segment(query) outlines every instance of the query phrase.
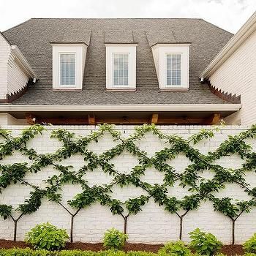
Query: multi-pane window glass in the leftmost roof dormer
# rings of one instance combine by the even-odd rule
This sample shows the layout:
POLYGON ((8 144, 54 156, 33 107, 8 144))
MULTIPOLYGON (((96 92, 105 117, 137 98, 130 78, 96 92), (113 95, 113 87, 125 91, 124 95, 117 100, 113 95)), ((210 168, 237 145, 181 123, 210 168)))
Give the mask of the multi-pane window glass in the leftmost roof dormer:
POLYGON ((75 53, 61 53, 60 64, 60 85, 75 86, 75 53))

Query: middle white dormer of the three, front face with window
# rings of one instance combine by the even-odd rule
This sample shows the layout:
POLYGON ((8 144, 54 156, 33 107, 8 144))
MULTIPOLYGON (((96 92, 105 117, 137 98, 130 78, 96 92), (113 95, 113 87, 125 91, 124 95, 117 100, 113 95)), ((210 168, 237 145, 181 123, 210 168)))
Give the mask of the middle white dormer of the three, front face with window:
POLYGON ((106 88, 111 90, 136 89, 137 44, 105 44, 106 88))

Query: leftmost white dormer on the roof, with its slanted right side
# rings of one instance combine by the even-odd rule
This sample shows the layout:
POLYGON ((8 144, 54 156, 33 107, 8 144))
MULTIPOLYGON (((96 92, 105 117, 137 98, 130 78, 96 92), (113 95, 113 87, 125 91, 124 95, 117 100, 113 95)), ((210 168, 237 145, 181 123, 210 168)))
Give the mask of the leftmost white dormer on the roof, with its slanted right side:
POLYGON ((53 44, 53 89, 81 90, 86 64, 87 45, 53 44))

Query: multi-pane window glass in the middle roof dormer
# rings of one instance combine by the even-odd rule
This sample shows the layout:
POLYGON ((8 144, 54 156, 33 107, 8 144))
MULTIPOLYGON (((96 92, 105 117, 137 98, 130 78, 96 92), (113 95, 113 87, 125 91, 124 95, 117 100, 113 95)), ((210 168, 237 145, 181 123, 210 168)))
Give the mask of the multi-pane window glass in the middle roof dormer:
POLYGON ((113 85, 128 86, 128 53, 115 53, 113 55, 113 85))

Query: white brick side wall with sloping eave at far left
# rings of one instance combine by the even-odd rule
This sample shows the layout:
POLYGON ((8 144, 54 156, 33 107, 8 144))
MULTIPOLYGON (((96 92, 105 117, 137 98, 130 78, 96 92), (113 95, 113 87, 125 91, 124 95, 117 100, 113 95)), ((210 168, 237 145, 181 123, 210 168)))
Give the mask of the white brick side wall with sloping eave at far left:
POLYGON ((8 102, 8 96, 24 89, 34 78, 37 75, 18 47, 0 34, 0 100, 8 102))

